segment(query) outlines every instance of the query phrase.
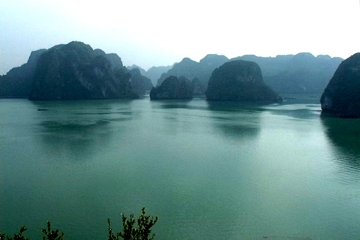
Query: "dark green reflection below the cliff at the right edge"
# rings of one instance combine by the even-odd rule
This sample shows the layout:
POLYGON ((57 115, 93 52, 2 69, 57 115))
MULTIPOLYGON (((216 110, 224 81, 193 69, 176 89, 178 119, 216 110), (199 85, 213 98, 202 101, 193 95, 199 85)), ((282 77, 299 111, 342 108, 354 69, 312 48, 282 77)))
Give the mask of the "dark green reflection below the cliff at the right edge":
POLYGON ((360 119, 321 117, 328 140, 341 153, 337 159, 360 171, 360 119))

